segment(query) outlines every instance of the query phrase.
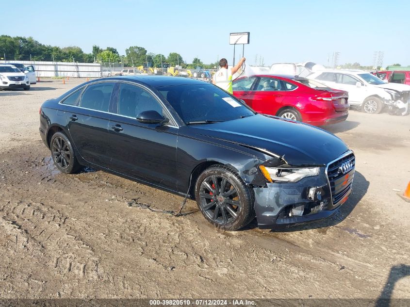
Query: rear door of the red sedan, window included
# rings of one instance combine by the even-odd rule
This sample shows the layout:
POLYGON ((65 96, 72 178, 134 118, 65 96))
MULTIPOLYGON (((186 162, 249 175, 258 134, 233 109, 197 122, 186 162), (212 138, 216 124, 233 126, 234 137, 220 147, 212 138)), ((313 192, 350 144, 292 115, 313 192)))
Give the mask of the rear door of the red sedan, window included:
POLYGON ((252 108, 258 113, 276 115, 286 97, 283 83, 276 78, 260 77, 253 90, 252 108))

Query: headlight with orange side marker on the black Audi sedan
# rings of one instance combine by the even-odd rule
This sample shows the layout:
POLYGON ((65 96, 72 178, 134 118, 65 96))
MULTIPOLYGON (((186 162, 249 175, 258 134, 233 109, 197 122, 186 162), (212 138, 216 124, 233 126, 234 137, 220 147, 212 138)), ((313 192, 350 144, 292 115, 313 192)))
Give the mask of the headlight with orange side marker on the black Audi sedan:
POLYGON ((320 167, 266 167, 260 165, 263 176, 269 182, 296 182, 305 177, 317 176, 320 167))

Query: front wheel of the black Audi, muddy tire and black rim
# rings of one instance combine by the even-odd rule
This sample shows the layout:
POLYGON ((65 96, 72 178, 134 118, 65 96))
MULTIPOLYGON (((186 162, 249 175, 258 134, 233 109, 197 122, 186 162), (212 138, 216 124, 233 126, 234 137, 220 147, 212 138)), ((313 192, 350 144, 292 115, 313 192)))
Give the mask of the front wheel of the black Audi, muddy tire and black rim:
POLYGON ((253 191, 227 166, 214 165, 203 171, 195 198, 205 218, 218 228, 238 230, 255 217, 253 191))

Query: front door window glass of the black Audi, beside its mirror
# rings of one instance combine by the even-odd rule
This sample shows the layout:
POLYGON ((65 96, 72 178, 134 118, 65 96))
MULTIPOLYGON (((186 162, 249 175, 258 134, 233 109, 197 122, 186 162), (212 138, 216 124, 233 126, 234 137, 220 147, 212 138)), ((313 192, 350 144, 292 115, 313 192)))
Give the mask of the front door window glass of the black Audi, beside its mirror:
POLYGON ((117 113, 136 118, 144 111, 157 111, 164 115, 163 108, 155 97, 137 85, 121 83, 119 88, 117 113))

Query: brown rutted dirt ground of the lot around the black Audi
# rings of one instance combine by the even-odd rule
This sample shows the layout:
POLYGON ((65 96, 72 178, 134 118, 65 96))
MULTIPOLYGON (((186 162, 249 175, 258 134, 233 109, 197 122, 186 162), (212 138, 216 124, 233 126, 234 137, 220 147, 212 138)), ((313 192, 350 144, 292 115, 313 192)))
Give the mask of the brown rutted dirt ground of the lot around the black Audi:
POLYGON ((331 218, 224 232, 193 201, 182 217, 137 206, 178 210, 180 196, 55 169, 38 110, 83 81, 0 92, 1 298, 410 298, 410 203, 397 195, 410 116, 350 111, 327 128, 356 153, 354 192, 331 218))

